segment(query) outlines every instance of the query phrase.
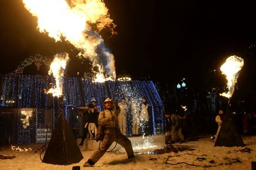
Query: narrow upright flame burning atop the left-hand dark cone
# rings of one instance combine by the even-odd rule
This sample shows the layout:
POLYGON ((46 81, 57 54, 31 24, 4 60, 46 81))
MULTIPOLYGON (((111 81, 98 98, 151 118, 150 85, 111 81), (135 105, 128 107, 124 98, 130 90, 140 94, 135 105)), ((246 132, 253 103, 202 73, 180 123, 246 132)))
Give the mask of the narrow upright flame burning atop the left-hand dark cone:
POLYGON ((53 75, 55 78, 56 85, 49 89, 47 94, 51 93, 52 96, 60 97, 62 95, 63 90, 63 82, 62 77, 64 75, 65 66, 68 61, 68 54, 56 54, 54 60, 51 62, 51 68, 48 72, 49 75, 53 75))

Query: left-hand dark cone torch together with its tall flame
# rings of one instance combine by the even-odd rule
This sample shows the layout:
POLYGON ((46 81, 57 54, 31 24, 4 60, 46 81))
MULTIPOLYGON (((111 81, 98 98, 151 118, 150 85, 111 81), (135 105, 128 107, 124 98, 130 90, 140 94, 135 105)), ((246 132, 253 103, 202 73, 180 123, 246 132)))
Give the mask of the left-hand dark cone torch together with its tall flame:
POLYGON ((63 113, 62 78, 68 59, 68 54, 55 55, 49 71, 49 74, 53 74, 56 85, 47 93, 51 93, 52 96, 58 98, 60 115, 45 151, 44 158, 42 159, 42 162, 47 164, 69 165, 83 159, 83 155, 77 146, 76 138, 74 138, 73 132, 63 113))

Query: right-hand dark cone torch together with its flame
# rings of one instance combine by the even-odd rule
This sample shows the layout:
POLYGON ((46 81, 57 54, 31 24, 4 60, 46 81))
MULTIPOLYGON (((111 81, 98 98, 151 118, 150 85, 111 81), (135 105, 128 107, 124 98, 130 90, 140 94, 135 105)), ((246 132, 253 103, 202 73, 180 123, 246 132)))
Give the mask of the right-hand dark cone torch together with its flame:
POLYGON ((244 146, 241 136, 235 128, 232 121, 231 111, 229 109, 229 103, 231 96, 235 91, 235 84, 239 76, 239 71, 244 65, 244 59, 239 56, 229 56, 227 61, 221 66, 222 74, 226 75, 228 92, 220 94, 228 98, 227 111, 222 122, 221 129, 216 136, 216 142, 214 146, 244 146))

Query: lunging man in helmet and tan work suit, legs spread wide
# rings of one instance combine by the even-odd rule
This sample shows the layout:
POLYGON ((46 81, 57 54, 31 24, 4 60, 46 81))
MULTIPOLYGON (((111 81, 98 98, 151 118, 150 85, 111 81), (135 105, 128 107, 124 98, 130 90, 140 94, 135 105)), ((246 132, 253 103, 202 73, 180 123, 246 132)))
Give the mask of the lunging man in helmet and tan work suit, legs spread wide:
POLYGON ((110 98, 107 98, 104 101, 104 111, 100 112, 99 115, 99 125, 103 126, 104 129, 104 138, 101 142, 99 149, 90 156, 87 162, 84 164, 84 167, 90 167, 96 164, 97 161, 106 153, 107 149, 113 144, 115 140, 116 142, 124 147, 126 150, 128 158, 134 158, 133 148, 131 141, 124 136, 118 126, 118 121, 115 121, 115 114, 119 114, 120 108, 117 105, 117 102, 111 101, 110 98), (116 109, 114 109, 116 107, 116 109), (116 113, 114 112, 116 110, 116 113), (116 125, 116 127, 115 127, 116 125))

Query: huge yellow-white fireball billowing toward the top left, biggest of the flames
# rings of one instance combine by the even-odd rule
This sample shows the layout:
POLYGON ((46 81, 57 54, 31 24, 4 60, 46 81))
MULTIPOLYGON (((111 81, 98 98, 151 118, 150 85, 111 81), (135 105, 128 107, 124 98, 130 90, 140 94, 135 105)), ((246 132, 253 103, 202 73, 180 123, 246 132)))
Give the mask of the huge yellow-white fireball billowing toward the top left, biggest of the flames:
POLYGON ((23 0, 25 8, 38 18, 38 29, 55 41, 69 41, 80 53, 79 58, 88 58, 93 66, 104 64, 107 75, 113 74, 114 58, 104 47, 100 32, 116 25, 110 19, 103 0, 23 0), (93 29, 91 28, 93 26, 93 29), (111 67, 111 68, 108 68, 111 67))

